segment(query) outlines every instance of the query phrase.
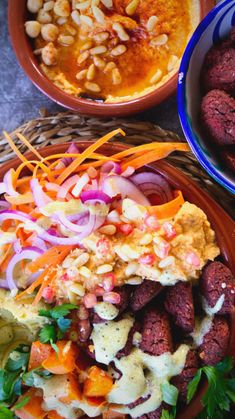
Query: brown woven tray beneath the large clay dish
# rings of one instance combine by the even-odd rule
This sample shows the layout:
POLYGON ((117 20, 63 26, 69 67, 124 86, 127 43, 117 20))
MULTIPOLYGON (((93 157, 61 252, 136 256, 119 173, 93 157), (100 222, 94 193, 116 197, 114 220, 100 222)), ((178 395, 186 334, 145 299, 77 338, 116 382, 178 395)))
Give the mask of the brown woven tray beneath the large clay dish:
MULTIPOLYGON (((123 140, 127 144, 139 145, 152 141, 185 141, 173 132, 163 130, 150 122, 141 122, 126 119, 98 119, 79 116, 73 112, 63 112, 56 115, 47 115, 45 110, 41 111, 41 116, 29 121, 11 133, 15 144, 19 146, 21 152, 25 151, 25 146, 20 145, 16 133, 20 132, 38 148, 63 142, 96 139, 120 127, 126 132, 123 140)), ((118 139, 120 141, 120 138, 118 139)), ((0 137, 0 164, 13 158, 14 153, 7 141, 0 137)), ((171 164, 178 167, 186 175, 190 176, 206 190, 212 197, 219 202, 224 209, 234 217, 235 197, 225 191, 215 183, 198 164, 194 155, 189 153, 174 153, 167 159, 171 164)))

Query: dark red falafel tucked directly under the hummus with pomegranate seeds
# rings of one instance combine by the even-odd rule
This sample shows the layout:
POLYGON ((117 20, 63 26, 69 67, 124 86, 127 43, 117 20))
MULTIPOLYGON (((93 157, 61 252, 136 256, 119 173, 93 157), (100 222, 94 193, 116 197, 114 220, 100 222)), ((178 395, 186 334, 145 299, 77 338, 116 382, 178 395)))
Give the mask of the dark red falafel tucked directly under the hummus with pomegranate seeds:
POLYGON ((142 284, 137 285, 131 296, 130 306, 133 311, 141 310, 148 304, 159 292, 163 286, 159 282, 145 280, 142 284))

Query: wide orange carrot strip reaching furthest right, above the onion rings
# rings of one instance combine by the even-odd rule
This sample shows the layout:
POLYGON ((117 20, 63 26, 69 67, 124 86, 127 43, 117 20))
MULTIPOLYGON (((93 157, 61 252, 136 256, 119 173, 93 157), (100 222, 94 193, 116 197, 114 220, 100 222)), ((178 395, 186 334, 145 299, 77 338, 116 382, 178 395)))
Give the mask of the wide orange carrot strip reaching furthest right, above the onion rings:
POLYGON ((124 160, 124 163, 121 165, 122 170, 126 170, 128 166, 133 167, 135 170, 140 167, 153 163, 156 160, 163 159, 167 157, 173 151, 189 151, 188 144, 185 143, 161 143, 159 147, 154 151, 149 151, 148 153, 142 153, 138 157, 133 159, 124 160))

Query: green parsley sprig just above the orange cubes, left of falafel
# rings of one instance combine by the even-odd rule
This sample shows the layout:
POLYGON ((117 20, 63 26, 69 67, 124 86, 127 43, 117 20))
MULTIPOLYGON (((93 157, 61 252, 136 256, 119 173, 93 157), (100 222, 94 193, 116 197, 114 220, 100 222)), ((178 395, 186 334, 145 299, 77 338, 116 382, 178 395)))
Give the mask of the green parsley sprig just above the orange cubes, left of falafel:
POLYGON ((62 339, 71 325, 71 320, 65 316, 78 307, 74 304, 62 304, 51 308, 50 310, 39 310, 39 315, 50 319, 50 324, 45 325, 40 333, 41 343, 50 343, 52 348, 58 353, 56 341, 62 339))

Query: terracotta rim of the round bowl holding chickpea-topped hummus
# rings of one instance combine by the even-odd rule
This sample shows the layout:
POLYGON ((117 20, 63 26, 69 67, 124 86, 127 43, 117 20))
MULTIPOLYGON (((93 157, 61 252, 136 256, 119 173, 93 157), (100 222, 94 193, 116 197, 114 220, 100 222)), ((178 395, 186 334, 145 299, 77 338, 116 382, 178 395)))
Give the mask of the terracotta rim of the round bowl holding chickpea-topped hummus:
MULTIPOLYGON (((143 97, 120 103, 99 103, 91 100, 75 98, 56 87, 41 71, 37 58, 34 56, 30 40, 25 34, 24 23, 27 16, 25 1, 8 1, 8 24, 13 48, 17 59, 32 82, 45 95, 65 108, 79 111, 87 115, 126 116, 144 111, 159 104, 170 96, 177 86, 177 74, 163 86, 143 97)), ((201 19, 211 10, 215 0, 200 0, 201 19)))

